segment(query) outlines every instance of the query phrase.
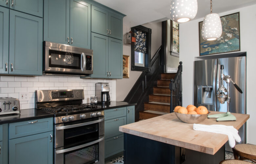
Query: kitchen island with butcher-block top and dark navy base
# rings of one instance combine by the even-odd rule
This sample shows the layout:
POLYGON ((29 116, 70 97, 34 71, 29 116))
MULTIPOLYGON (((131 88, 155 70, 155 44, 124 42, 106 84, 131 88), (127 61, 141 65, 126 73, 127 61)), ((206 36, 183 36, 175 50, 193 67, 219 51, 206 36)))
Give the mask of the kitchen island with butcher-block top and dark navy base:
MULTIPOLYGON (((222 112, 211 111, 210 114, 222 112)), ((236 121, 216 122, 205 119, 201 124, 222 124, 239 129, 248 114, 232 113, 236 121)), ((180 121, 175 113, 119 127, 124 132, 124 162, 130 163, 219 163, 225 158, 227 135, 193 130, 193 124, 180 121)))

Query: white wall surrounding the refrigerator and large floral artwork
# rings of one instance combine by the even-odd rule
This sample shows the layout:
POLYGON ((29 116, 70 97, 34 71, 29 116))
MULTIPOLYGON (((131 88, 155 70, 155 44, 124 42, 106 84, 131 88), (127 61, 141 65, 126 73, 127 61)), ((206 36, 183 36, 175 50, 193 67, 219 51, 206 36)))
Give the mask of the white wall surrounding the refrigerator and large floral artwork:
MULTIPOLYGON (((240 12, 240 46, 247 52, 246 72, 246 110, 250 114, 247 121, 247 143, 256 144, 256 109, 255 109, 255 36, 256 36, 256 5, 219 13, 220 16, 240 12)), ((199 56, 198 22, 203 18, 180 24, 180 61, 182 70, 182 101, 183 106, 193 104, 194 58, 199 56)))

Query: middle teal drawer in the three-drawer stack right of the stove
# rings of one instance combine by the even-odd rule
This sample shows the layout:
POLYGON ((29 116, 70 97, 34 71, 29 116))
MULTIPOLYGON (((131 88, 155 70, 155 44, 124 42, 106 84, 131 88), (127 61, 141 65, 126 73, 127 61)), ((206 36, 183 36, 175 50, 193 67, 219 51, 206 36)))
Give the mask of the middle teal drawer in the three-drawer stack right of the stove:
POLYGON ((119 132, 119 126, 123 126, 125 124, 126 117, 118 117, 105 120, 105 138, 110 138, 122 134, 122 132, 119 132))

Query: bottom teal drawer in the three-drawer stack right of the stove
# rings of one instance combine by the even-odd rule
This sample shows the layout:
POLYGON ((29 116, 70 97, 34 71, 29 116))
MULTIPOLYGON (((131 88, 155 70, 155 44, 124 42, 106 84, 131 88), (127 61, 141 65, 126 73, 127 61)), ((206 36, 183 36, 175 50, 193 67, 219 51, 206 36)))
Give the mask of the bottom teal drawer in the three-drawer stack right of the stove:
POLYGON ((105 158, 123 151, 123 134, 105 139, 105 158))

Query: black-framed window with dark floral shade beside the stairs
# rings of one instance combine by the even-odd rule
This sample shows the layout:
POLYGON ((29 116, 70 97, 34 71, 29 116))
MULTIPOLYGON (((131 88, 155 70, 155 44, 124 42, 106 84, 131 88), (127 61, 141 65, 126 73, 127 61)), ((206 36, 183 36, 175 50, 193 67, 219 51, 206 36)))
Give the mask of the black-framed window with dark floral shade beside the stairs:
POLYGON ((151 33, 152 30, 144 26, 131 28, 132 37, 136 42, 131 44, 132 71, 150 71, 151 60, 151 33))

